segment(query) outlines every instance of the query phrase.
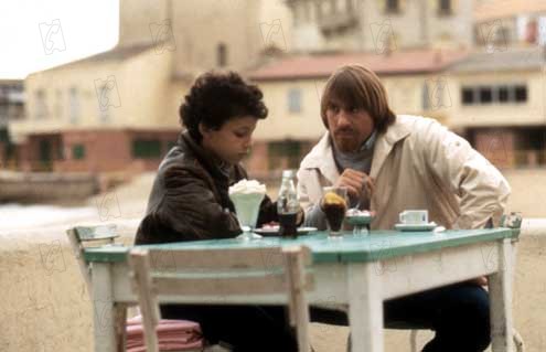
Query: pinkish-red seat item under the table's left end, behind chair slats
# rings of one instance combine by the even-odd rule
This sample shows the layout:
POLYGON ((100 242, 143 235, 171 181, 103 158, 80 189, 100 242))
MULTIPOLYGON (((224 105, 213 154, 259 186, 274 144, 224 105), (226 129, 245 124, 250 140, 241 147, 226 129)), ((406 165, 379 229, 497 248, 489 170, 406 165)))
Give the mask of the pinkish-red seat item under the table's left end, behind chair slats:
MULTIPOLYGON (((146 352, 141 316, 127 320, 127 352, 146 352)), ((202 351, 203 338, 199 323, 189 320, 162 319, 157 327, 160 351, 202 351)))

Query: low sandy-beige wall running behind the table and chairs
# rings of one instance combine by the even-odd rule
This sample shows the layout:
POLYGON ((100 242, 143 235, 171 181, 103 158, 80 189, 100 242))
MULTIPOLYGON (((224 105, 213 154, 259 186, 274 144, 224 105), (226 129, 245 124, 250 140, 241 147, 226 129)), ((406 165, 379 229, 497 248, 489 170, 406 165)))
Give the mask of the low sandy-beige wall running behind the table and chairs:
MULTIPOLYGON (((137 221, 117 223, 130 244, 137 221)), ((546 220, 524 220, 515 278, 514 317, 526 351, 544 351, 546 338, 546 220)), ((62 226, 0 232, 0 351, 90 352, 93 308, 62 226)), ((100 313, 100 312, 96 312, 100 313)), ((344 352, 347 328, 312 324, 317 352, 344 352)), ((419 332, 422 346, 430 332, 419 332)), ((409 332, 388 330, 386 351, 409 352, 409 332)))

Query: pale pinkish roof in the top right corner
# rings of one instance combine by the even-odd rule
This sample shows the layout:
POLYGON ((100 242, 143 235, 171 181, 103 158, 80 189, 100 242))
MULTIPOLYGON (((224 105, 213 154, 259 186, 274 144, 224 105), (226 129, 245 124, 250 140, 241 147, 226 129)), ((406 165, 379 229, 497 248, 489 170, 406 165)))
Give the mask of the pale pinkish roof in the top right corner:
POLYGON ((486 0, 474 7, 474 21, 484 22, 517 14, 546 12, 544 0, 486 0))

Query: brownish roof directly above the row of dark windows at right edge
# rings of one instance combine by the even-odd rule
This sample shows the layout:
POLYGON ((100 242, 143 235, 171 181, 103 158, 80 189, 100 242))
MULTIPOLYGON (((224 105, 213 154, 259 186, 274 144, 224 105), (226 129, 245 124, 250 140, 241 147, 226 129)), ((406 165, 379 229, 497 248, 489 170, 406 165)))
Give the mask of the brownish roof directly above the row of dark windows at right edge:
POLYGON ((539 46, 512 49, 500 52, 477 52, 450 67, 452 72, 491 72, 540 70, 545 62, 539 46))

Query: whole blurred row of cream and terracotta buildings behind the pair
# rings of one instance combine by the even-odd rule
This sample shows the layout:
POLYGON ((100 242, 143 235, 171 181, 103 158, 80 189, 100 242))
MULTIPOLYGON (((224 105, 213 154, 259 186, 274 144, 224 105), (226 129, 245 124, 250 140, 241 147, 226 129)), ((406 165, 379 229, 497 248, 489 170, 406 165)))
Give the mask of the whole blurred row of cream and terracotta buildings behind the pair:
POLYGON ((324 132, 335 67, 376 71, 398 114, 435 117, 503 168, 544 164, 546 4, 531 0, 121 0, 111 51, 31 74, 9 124, 22 170, 154 170, 193 79, 235 70, 270 115, 250 173, 296 168, 324 132))

